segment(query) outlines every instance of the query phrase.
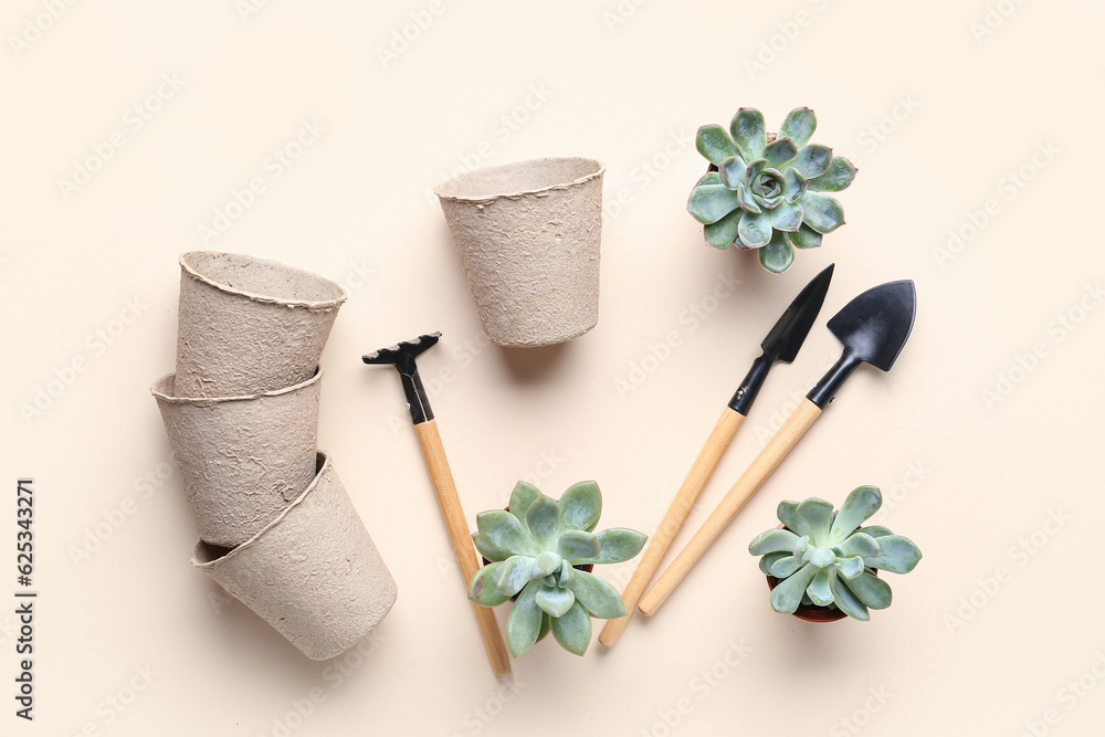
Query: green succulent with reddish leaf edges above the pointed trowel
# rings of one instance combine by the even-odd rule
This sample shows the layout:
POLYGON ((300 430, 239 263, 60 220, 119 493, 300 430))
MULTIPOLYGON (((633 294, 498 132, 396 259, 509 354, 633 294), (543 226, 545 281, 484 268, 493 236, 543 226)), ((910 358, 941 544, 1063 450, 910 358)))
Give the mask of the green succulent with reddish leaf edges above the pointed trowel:
POLYGON ((717 171, 694 186, 687 211, 705 224, 707 244, 757 249, 760 264, 781 274, 794 262, 794 249, 817 248, 822 235, 844 224, 840 202, 824 192, 845 189, 856 169, 809 143, 817 127, 813 110, 798 107, 771 135, 759 110, 741 107, 728 130, 698 128, 698 152, 717 171))

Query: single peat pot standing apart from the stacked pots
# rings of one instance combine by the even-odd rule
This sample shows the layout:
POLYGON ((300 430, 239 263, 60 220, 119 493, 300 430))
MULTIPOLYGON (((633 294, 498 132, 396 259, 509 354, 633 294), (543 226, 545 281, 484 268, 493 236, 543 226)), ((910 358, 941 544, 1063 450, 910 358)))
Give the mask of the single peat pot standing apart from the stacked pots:
POLYGON ((534 159, 434 190, 492 341, 547 346, 594 327, 602 172, 593 159, 534 159))

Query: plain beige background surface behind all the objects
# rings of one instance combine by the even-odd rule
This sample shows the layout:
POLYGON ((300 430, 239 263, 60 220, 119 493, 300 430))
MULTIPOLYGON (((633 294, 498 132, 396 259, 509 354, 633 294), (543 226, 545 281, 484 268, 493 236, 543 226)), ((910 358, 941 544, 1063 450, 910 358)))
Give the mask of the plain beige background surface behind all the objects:
MULTIPOLYGON (((36 481, 41 598, 38 718, 15 719, 6 695, 0 730, 1099 730, 1101 3, 369 6, 4 3, 0 444, 6 487, 36 481), (782 277, 704 246, 684 210, 704 169, 695 128, 743 105, 769 124, 813 107, 815 140, 861 169, 841 194, 848 225, 782 277), (298 158, 270 159, 301 135, 298 158), (430 191, 463 166, 557 154, 608 167, 599 326, 559 350, 488 347, 430 191), (83 186, 61 183, 97 157, 83 186), (264 191, 204 243, 254 178, 264 191), (194 531, 148 386, 172 368, 177 254, 204 246, 351 293, 323 359, 320 445, 400 592, 347 660, 308 662, 188 565, 194 531), (909 277, 919 314, 898 365, 849 382, 653 621, 582 660, 543 643, 496 683, 399 383, 360 355, 444 333, 422 371, 470 519, 519 477, 552 495, 596 478, 603 526, 651 533, 762 334, 831 261, 822 320, 693 519, 835 357, 824 319, 909 277), (57 396, 27 415, 48 386, 57 396), (776 614, 748 540, 780 499, 839 503, 860 484, 883 487, 875 520, 925 559, 870 623, 776 614)), ((9 601, 13 546, 0 550, 9 601)))

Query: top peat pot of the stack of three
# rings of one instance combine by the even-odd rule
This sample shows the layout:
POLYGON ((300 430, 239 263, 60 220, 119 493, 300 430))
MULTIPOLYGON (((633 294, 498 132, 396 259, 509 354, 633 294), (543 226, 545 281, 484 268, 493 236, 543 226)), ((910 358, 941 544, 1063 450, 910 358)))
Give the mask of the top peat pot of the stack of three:
POLYGON ((233 397, 309 379, 346 297, 337 283, 276 261, 182 254, 177 393, 233 397))

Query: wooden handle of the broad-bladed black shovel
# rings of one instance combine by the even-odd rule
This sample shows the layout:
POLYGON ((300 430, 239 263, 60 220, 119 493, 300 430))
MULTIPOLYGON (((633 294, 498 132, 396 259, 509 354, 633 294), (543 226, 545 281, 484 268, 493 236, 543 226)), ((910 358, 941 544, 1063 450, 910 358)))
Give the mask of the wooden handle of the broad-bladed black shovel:
POLYGON ((640 610, 644 612, 648 617, 652 617, 656 613, 660 607, 667 600, 667 597, 672 594, 675 587, 680 585, 683 577, 687 575, 692 566, 697 562, 702 554, 706 551, 706 548, 717 539, 717 536, 722 534, 733 518, 740 512, 740 507, 745 506, 745 503, 751 498, 751 495, 756 493, 756 489, 760 487, 764 480, 771 475, 776 466, 787 457, 791 449, 801 440, 806 431, 810 429, 813 421, 821 417, 821 409, 808 399, 803 399, 802 403, 798 406, 787 422, 783 423, 779 432, 768 442, 768 444, 760 451, 753 464, 748 466, 737 483, 733 485, 733 488, 725 495, 722 503, 717 505, 703 526, 695 533, 695 536, 691 538, 687 546, 683 548, 678 557, 672 561, 672 565, 667 567, 667 570, 656 580, 656 585, 649 590, 649 593, 644 596, 641 600, 640 610))

